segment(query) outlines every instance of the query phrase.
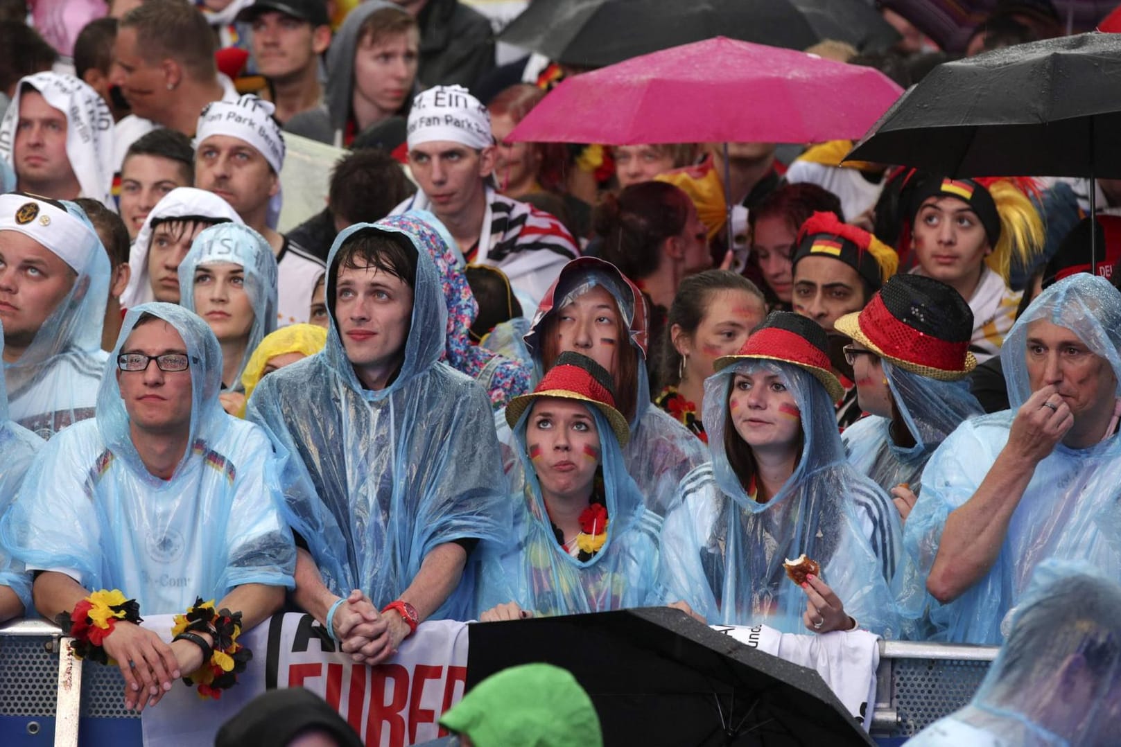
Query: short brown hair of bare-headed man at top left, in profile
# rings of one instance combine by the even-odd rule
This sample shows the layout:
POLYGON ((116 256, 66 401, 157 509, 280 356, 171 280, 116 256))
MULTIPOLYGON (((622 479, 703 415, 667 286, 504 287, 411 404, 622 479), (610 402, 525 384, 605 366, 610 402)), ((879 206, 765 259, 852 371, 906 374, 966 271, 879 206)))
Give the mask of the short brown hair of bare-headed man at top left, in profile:
POLYGON ((145 0, 124 13, 118 32, 136 29, 138 50, 148 64, 174 59, 196 81, 217 74, 216 41, 206 18, 186 0, 145 0))

